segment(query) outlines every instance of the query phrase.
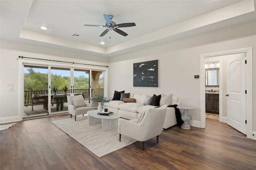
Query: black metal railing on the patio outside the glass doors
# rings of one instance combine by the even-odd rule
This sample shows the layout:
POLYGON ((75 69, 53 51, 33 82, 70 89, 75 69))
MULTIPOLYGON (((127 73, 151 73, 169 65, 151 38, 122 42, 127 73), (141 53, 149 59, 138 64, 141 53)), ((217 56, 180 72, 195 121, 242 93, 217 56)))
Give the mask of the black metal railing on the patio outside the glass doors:
MULTIPOLYGON (((53 93, 53 90, 51 90, 51 93, 53 93)), ((57 90, 57 93, 64 93, 64 90, 57 90)), ((68 90, 67 93, 70 93, 70 90, 68 90)), ((84 99, 89 99, 90 98, 90 90, 89 89, 74 89, 74 93, 75 94, 81 93, 84 96, 84 99)), ((27 90, 27 91, 24 91, 24 106, 31 105, 32 94, 35 94, 35 95, 48 94, 48 90, 27 90)))

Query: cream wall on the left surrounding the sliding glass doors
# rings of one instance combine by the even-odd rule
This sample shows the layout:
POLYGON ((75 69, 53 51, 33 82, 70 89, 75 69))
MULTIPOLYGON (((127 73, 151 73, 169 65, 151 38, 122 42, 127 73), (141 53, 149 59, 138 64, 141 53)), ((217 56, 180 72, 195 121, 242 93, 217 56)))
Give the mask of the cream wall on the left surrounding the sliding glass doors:
POLYGON ((108 65, 108 58, 105 57, 84 55, 5 39, 1 39, 0 43, 0 123, 19 120, 18 56, 84 64, 108 65), (6 87, 7 83, 14 83, 14 91, 8 91, 6 87))

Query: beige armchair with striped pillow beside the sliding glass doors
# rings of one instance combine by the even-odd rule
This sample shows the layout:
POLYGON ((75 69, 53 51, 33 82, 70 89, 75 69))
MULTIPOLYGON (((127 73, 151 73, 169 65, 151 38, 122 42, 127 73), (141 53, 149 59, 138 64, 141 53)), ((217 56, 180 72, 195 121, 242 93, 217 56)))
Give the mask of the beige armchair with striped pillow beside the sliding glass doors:
POLYGON ((87 104, 84 102, 84 98, 82 94, 77 96, 67 96, 68 99, 68 113, 70 113, 70 118, 72 118, 72 115, 84 115, 89 110, 93 110, 94 107, 92 107, 92 104, 87 104))

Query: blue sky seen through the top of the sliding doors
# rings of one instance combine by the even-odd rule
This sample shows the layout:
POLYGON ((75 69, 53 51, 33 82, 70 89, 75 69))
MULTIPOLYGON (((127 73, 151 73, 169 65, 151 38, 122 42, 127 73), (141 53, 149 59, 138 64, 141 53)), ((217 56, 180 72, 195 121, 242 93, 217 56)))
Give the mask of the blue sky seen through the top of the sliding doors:
MULTIPOLYGON (((40 73, 48 73, 48 69, 44 69, 44 68, 33 68, 33 70, 35 72, 40 72, 40 73)), ((57 74, 57 75, 61 75, 61 76, 70 76, 70 71, 68 70, 51 70, 52 74, 57 74)), ((24 67, 24 73, 28 73, 28 68, 24 67)), ((88 74, 85 74, 85 72, 81 72, 81 71, 75 71, 74 72, 74 76, 75 77, 79 77, 80 75, 83 75, 85 77, 89 77, 88 74)), ((103 74, 100 74, 100 78, 103 77, 103 74)))

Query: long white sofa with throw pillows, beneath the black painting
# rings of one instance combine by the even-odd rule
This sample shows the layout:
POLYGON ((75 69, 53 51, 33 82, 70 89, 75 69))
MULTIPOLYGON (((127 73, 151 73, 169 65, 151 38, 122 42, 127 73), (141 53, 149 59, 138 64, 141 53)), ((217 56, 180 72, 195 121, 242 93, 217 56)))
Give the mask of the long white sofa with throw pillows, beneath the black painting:
MULTIPOLYGON (((104 107, 107 108, 109 111, 118 113, 120 115, 120 117, 122 117, 124 119, 128 119, 128 120, 138 119, 142 112, 147 111, 148 108, 156 107, 156 106, 151 106, 151 105, 144 105, 145 99, 148 98, 147 96, 152 96, 152 95, 138 94, 138 93, 130 94, 129 98, 134 98, 136 100, 136 102, 125 103, 125 102, 119 101, 119 100, 112 100, 109 103, 105 103, 104 107)), ((178 97, 172 96, 172 94, 170 94, 170 95, 162 94, 161 95, 160 106, 163 106, 164 104, 167 104, 167 105, 177 104, 178 106, 181 106, 181 102, 178 101, 178 97), (166 101, 166 98, 169 96, 171 97, 171 99, 166 101)), ((176 115, 175 115, 175 108, 167 107, 166 117, 165 117, 163 128, 167 129, 176 124, 177 124, 177 121, 176 121, 176 115)))

